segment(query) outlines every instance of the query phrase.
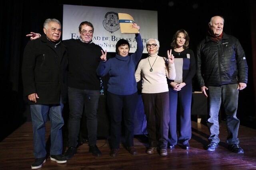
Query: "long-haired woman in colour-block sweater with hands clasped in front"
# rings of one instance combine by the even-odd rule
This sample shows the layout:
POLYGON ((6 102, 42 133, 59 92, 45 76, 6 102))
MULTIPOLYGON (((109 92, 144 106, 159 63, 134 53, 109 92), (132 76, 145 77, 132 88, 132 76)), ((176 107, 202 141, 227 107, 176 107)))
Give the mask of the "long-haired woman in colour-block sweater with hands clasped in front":
POLYGON ((196 73, 196 64, 193 51, 188 49, 188 42, 187 31, 180 29, 174 34, 171 43, 172 54, 175 57, 176 78, 168 83, 170 149, 174 149, 177 144, 186 150, 190 148, 188 141, 191 139, 192 78, 196 73), (177 115, 179 121, 177 121, 177 115), (178 134, 177 124, 179 125, 178 134))

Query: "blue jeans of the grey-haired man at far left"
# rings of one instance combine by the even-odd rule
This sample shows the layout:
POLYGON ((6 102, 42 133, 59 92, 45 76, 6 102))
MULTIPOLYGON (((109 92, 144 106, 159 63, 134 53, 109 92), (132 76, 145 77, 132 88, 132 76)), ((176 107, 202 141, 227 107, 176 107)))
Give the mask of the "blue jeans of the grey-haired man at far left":
POLYGON ((50 154, 62 154, 62 126, 64 125, 62 109, 62 103, 57 105, 30 105, 35 158, 46 157, 45 123, 48 113, 51 122, 50 154))

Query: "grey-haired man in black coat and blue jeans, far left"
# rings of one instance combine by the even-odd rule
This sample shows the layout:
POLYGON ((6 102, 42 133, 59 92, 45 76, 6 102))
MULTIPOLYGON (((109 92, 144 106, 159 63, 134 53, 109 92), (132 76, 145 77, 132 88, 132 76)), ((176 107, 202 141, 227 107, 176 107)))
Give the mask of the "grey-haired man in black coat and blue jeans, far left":
POLYGON ((28 97, 33 125, 35 161, 37 169, 46 161, 45 123, 51 121, 50 159, 67 162, 62 155, 63 103, 66 100, 67 51, 60 41, 61 23, 56 19, 44 22, 44 35, 29 41, 24 49, 22 80, 24 95, 28 97))

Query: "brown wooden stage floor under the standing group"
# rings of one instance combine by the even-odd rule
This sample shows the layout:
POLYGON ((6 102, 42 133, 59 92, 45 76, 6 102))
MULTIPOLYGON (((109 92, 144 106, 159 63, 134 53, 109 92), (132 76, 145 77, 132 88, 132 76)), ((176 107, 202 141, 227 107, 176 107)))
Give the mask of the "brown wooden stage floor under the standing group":
MULTIPOLYGON (((49 136, 50 123, 47 123, 49 136)), ((190 150, 176 146, 168 149, 168 156, 145 153, 147 138, 144 135, 134 137, 134 145, 138 151, 132 156, 121 145, 117 157, 109 156, 109 145, 105 139, 98 140, 97 145, 102 151, 101 157, 94 157, 88 152, 84 143, 78 153, 65 164, 57 164, 50 158, 40 170, 248 170, 256 169, 256 130, 240 126, 240 146, 244 154, 235 154, 225 144, 226 125, 220 124, 221 143, 214 152, 204 149, 207 141, 208 128, 202 123, 192 121, 192 139, 190 150)), ((47 139, 46 138, 46 139, 47 139)), ((30 169, 33 157, 32 123, 26 122, 0 143, 0 170, 30 169)))

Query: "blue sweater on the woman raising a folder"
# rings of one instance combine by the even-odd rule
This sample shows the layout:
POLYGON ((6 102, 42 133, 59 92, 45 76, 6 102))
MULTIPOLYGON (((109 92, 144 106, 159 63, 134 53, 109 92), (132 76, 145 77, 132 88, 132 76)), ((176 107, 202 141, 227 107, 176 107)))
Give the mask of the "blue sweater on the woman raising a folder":
POLYGON ((109 74, 108 92, 117 95, 130 95, 137 92, 135 68, 143 52, 143 43, 140 34, 136 34, 137 50, 134 54, 122 57, 116 55, 108 61, 100 61, 96 70, 98 76, 109 74))

